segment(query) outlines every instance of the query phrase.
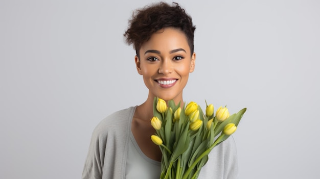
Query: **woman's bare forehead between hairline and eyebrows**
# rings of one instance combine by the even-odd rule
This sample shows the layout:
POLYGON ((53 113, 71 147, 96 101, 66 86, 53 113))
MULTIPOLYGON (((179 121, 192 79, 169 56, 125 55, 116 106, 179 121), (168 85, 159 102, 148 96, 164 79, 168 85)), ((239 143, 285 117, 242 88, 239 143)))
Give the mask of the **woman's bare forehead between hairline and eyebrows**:
POLYGON ((187 36, 179 29, 165 28, 153 33, 150 39, 141 45, 140 55, 150 49, 169 52, 177 48, 183 48, 190 53, 187 36))

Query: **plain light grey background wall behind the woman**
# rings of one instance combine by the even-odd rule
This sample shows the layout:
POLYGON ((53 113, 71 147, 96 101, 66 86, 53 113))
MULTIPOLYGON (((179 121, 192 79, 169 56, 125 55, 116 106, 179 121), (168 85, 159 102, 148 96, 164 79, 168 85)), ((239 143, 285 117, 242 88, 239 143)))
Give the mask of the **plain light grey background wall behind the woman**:
MULTIPOLYGON (((98 122, 147 97, 122 34, 150 2, 0 1, 0 178, 80 178, 98 122)), ((177 2, 197 27, 184 99, 248 108, 239 178, 320 178, 319 1, 177 2)))

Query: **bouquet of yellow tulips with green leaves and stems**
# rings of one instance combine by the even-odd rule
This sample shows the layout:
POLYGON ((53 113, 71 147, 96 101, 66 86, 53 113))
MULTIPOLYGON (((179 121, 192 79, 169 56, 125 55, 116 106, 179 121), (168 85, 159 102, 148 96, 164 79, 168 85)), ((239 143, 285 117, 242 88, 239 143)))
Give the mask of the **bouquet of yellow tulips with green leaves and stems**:
POLYGON ((220 107, 214 115, 213 105, 205 103, 204 114, 194 102, 181 109, 172 100, 167 106, 165 100, 154 98, 151 125, 156 134, 151 140, 163 155, 160 178, 197 178, 209 152, 236 131, 246 111, 230 115, 226 107, 220 107))

